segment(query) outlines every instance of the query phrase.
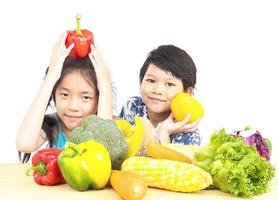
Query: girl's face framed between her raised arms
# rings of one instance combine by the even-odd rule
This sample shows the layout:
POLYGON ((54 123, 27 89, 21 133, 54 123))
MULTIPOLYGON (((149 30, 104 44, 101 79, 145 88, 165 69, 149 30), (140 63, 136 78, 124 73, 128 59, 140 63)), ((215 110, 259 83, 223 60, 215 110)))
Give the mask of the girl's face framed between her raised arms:
POLYGON ((96 114, 98 96, 96 87, 89 84, 78 71, 64 76, 55 92, 56 111, 62 130, 69 134, 90 114, 96 114))

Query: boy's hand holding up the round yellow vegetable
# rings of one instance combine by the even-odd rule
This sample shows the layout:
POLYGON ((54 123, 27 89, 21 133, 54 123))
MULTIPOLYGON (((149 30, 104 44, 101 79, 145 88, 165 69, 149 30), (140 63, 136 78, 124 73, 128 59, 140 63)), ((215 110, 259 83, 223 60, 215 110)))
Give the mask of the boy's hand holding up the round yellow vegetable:
POLYGON ((188 133, 195 131, 200 123, 200 119, 195 122, 188 123, 190 118, 190 114, 186 116, 186 118, 181 122, 176 122, 174 120, 174 116, 171 113, 170 116, 163 121, 158 128, 158 135, 160 141, 163 143, 170 142, 170 135, 177 133, 188 133))

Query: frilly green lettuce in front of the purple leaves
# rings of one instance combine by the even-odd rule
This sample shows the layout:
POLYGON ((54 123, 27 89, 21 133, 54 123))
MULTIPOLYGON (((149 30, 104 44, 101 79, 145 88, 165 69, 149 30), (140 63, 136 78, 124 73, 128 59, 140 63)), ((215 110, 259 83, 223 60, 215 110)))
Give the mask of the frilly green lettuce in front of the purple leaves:
POLYGON ((252 197, 268 191, 274 168, 241 137, 216 131, 209 144, 195 155, 195 165, 208 171, 216 188, 237 196, 252 197))

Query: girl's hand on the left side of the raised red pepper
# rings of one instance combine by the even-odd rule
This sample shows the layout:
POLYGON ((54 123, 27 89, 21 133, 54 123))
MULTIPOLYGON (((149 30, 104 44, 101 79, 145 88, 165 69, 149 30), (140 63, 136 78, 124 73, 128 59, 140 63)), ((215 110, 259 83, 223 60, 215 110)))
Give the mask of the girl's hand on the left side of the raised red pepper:
POLYGON ((48 76, 58 80, 61 76, 63 63, 66 57, 69 55, 71 49, 74 47, 72 43, 68 48, 65 46, 65 40, 67 38, 67 32, 61 34, 60 38, 54 44, 50 57, 50 64, 48 69, 48 76))

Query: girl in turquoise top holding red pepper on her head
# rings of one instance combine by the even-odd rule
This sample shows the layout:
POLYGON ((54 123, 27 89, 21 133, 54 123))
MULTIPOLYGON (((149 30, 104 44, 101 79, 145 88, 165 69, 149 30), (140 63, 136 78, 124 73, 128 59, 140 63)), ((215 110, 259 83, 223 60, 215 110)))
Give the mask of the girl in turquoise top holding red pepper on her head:
POLYGON ((18 150, 29 153, 23 162, 46 141, 62 149, 69 133, 90 114, 112 119, 111 77, 99 50, 92 45, 88 57, 71 59, 73 44, 66 49, 66 36, 55 43, 46 77, 17 133, 18 150), (51 100, 56 113, 45 115, 51 100))

